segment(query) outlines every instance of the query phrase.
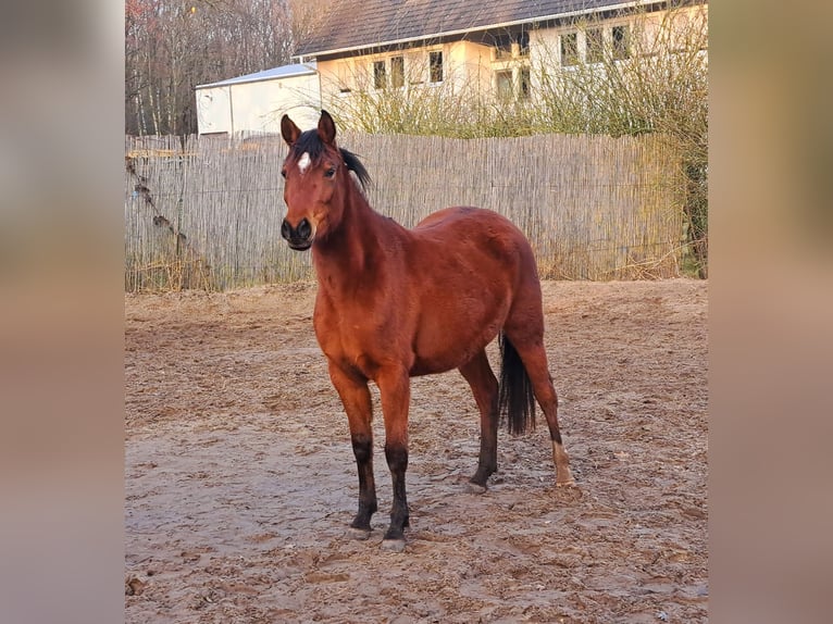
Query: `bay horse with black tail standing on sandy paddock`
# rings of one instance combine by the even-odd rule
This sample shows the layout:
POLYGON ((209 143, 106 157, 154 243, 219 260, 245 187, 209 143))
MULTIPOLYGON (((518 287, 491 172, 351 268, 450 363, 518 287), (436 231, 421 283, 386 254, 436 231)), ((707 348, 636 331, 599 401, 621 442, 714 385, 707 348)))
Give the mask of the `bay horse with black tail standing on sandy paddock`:
POLYGON ((319 283, 313 326, 347 413, 359 472, 353 536, 369 537, 376 511, 370 380, 380 390, 394 486, 383 549, 401 551, 409 525, 410 377, 457 369, 471 386, 481 419, 471 490, 485 491, 497 470, 501 414, 510 433, 523 433, 534 427, 535 399, 549 426, 556 485, 572 485, 544 350, 540 283, 521 230, 496 212, 465 207, 407 229, 370 207, 363 194, 370 175, 336 145, 326 111, 303 133, 284 115, 281 134, 289 146, 281 172, 287 207, 281 234, 291 249, 312 248, 319 283), (486 357, 498 335, 499 383, 486 357))

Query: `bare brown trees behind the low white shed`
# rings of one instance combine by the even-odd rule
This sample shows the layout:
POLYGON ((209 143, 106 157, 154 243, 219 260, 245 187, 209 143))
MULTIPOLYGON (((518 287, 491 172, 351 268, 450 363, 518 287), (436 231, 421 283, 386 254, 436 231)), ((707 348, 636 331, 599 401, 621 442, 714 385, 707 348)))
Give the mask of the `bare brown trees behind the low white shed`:
POLYGON ((321 15, 298 0, 127 0, 125 129, 197 130, 197 85, 289 62, 321 15))

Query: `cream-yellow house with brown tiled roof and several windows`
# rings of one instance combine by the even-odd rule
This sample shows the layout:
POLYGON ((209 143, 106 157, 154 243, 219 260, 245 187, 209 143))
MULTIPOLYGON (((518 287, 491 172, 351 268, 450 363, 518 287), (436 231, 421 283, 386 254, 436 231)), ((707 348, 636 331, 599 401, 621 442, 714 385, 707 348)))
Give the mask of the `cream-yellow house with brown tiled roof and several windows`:
POLYGON ((343 117, 357 98, 391 89, 522 101, 554 68, 649 54, 662 30, 706 28, 707 10, 705 1, 334 0, 295 58, 316 62, 321 101, 343 117))

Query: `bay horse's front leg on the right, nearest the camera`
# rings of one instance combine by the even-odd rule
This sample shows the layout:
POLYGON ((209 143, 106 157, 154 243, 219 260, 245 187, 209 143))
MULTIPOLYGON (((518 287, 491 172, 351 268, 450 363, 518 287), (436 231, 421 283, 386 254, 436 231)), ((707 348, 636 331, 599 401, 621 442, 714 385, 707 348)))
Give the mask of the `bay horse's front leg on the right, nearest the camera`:
POLYGON ((377 379, 385 417, 385 458, 394 484, 394 504, 390 508, 390 526, 385 533, 382 548, 405 549, 403 529, 408 526, 408 498, 405 491, 405 473, 408 470, 408 409, 411 400, 411 382, 405 367, 383 371, 377 379))

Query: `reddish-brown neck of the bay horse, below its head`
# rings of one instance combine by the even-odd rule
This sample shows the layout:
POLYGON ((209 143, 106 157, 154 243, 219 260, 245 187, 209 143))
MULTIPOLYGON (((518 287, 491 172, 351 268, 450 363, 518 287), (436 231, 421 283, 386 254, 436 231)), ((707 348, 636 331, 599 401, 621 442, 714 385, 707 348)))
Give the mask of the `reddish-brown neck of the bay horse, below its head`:
POLYGON ((374 211, 358 189, 351 189, 339 227, 313 250, 320 282, 355 283, 360 276, 377 271, 387 253, 385 248, 389 247, 386 244, 402 232, 405 228, 374 211))

